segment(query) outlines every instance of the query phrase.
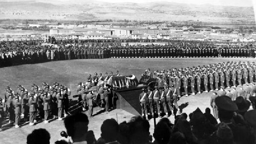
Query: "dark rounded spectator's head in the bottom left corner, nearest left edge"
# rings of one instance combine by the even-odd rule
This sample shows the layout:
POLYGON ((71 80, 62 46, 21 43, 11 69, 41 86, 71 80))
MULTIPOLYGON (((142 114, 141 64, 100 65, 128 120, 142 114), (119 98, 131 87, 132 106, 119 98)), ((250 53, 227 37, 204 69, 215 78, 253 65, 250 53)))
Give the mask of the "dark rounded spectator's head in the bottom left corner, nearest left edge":
POLYGON ((36 129, 28 134, 27 144, 50 144, 51 135, 45 129, 36 129))

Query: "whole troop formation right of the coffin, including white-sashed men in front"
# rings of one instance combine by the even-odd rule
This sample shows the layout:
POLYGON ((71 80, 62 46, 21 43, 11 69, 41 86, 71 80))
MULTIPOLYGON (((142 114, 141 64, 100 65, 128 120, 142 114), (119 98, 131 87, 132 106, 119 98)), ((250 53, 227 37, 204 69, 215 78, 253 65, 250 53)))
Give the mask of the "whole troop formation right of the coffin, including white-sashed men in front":
MULTIPOLYGON (((150 69, 148 76, 152 76, 150 69)), ((223 62, 208 66, 193 66, 191 68, 168 69, 154 72, 157 78, 157 86, 154 89, 148 87, 148 90, 142 89, 140 94, 140 104, 142 116, 148 118, 148 114, 154 116, 158 113, 162 117, 162 113, 169 116, 174 114, 175 108, 178 113, 180 109, 177 100, 184 95, 186 97, 202 92, 217 93, 217 96, 228 96, 230 100, 236 101, 237 98, 247 100, 247 107, 255 109, 255 83, 256 65, 254 62, 223 62), (156 108, 155 108, 156 107, 156 108), (154 109, 155 108, 155 109, 154 109)), ((214 117, 216 116, 216 106, 213 108, 214 117)), ((240 100, 241 101, 241 100, 240 100)), ((247 108, 247 109, 248 109, 247 108)))

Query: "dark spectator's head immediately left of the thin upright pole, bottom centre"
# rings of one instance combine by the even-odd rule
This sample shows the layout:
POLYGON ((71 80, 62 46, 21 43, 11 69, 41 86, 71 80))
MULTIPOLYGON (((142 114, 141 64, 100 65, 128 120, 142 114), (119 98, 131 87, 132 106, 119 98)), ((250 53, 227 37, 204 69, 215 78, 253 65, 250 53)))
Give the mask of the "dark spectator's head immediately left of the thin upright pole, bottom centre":
POLYGON ((141 116, 132 117, 129 125, 129 141, 131 144, 149 144, 149 122, 141 116))

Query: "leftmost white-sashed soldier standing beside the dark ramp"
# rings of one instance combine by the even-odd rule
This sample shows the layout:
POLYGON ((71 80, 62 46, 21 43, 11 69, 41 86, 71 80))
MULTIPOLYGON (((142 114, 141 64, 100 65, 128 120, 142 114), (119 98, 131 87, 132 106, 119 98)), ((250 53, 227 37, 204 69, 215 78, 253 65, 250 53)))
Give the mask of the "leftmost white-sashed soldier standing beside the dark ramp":
POLYGON ((148 96, 146 93, 146 89, 142 88, 141 90, 142 92, 140 93, 139 96, 139 101, 140 101, 140 105, 141 105, 141 114, 142 117, 144 117, 144 115, 146 116, 146 119, 148 119, 148 96))

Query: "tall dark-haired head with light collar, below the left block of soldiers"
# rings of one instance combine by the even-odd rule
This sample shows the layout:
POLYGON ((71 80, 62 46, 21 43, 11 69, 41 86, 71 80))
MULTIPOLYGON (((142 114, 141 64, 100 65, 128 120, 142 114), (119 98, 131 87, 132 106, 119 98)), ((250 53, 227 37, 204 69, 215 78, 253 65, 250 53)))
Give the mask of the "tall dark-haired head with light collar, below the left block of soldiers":
POLYGON ((83 113, 76 113, 68 116, 64 120, 68 136, 71 136, 73 144, 82 144, 86 142, 89 120, 83 113))

